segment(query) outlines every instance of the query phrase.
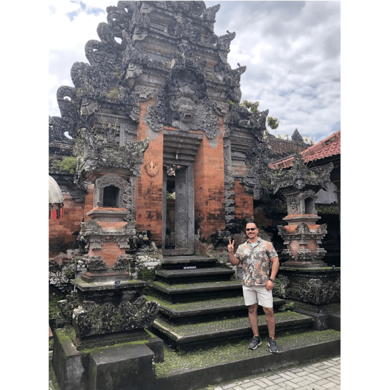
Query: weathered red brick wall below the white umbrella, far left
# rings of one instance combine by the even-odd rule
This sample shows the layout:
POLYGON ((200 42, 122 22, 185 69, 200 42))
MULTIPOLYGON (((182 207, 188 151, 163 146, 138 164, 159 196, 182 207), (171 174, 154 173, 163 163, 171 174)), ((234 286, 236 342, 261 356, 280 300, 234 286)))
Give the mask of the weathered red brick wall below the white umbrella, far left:
POLYGON ((65 194, 63 218, 49 220, 49 258, 66 253, 67 249, 78 249, 77 236, 80 222, 84 219, 84 204, 75 202, 71 195, 65 194))

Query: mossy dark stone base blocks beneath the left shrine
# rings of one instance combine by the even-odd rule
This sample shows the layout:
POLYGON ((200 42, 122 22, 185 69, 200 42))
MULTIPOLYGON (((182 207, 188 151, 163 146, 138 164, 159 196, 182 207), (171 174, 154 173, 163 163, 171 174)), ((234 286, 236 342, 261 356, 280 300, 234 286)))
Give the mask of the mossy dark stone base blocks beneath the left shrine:
MULTIPOLYGON (((93 348, 91 339, 79 350, 68 324, 54 334, 53 369, 61 390, 143 390, 153 388, 156 362, 164 360, 163 342, 147 330, 127 333, 117 343, 93 348), (135 334, 136 333, 136 334, 135 334), (130 338, 135 340, 128 341, 130 338), (87 348, 89 347, 89 348, 87 348)), ((95 340, 102 342, 102 337, 95 340)))

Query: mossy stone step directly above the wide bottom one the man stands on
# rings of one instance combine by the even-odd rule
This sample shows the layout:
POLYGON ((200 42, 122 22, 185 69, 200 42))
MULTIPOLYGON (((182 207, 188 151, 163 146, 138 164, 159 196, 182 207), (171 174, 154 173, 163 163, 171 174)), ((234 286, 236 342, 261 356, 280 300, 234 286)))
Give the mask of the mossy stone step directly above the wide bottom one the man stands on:
MULTIPOLYGON (((275 316, 276 334, 285 330, 302 332, 309 329, 314 322, 310 316, 290 311, 275 313, 275 316)), ((260 335, 266 338, 268 330, 264 314, 258 316, 258 328, 260 335)), ((248 316, 176 324, 158 314, 152 332, 163 340, 170 341, 182 351, 191 351, 253 335, 248 316)))

